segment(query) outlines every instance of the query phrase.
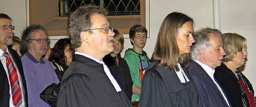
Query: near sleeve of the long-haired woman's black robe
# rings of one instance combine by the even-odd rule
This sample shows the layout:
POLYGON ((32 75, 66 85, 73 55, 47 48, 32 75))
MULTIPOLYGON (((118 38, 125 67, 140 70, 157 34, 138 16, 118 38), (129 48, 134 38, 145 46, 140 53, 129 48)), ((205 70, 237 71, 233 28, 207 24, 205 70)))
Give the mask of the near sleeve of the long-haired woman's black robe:
POLYGON ((174 107, 157 70, 146 71, 141 87, 139 107, 174 107))

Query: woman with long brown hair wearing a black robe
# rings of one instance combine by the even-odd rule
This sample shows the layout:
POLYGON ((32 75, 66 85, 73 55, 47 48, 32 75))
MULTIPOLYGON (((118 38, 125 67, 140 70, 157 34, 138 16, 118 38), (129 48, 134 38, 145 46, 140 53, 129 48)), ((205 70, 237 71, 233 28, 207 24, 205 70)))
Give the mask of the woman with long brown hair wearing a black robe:
POLYGON ((173 12, 166 16, 151 62, 142 80, 140 107, 201 107, 202 101, 185 68, 195 42, 193 19, 173 12))

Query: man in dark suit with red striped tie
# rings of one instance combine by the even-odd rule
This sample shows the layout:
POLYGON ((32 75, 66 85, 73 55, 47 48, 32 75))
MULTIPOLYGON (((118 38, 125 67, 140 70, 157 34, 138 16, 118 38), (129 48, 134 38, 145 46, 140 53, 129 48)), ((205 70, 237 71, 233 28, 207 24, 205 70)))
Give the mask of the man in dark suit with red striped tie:
POLYGON ((0 107, 27 107, 28 94, 22 62, 12 45, 12 19, 0 14, 0 107), (10 69, 12 68, 12 69, 10 69))

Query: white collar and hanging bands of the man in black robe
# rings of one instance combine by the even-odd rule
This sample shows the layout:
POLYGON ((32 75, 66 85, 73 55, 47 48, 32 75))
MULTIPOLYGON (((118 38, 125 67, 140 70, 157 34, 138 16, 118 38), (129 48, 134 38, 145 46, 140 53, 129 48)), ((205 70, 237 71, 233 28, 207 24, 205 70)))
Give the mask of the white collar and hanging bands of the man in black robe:
POLYGON ((98 60, 98 59, 96 59, 96 58, 94 58, 94 57, 92 57, 88 54, 84 54, 84 53, 80 53, 80 52, 75 52, 75 54, 80 54, 80 55, 85 56, 87 58, 90 58, 90 59, 92 59, 92 60, 94 60, 94 61, 96 61, 100 64, 103 64, 104 71, 105 71, 106 75, 108 76, 110 82, 113 84, 114 88, 116 89, 116 92, 119 92, 119 91, 122 90, 120 88, 120 86, 118 85, 118 83, 116 82, 116 79, 112 76, 112 74, 110 73, 110 70, 108 69, 108 67, 106 66, 106 64, 102 60, 100 61, 100 60, 98 60))

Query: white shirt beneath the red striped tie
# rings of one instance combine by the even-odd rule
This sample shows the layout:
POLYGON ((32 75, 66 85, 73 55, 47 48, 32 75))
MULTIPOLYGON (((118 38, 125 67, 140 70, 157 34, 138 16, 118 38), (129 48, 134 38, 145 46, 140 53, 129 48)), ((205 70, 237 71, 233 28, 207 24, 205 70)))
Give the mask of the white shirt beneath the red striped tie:
MULTIPOLYGON (((25 97, 24 97, 24 88, 22 86, 22 80, 21 80, 21 76, 20 76, 20 72, 19 72, 19 69, 17 68, 17 65, 16 63, 14 62, 14 59, 12 58, 12 54, 10 54, 8 48, 6 48, 6 52, 9 54, 13 64, 14 64, 14 67, 16 68, 16 71, 17 71, 17 74, 18 74, 18 79, 19 79, 19 84, 20 84, 20 90, 21 90, 21 96, 22 96, 22 104, 20 105, 20 107, 24 107, 25 106, 25 97)), ((4 70, 6 71, 6 75, 7 75, 7 78, 8 78, 8 81, 9 81, 9 91, 10 91, 10 101, 9 101, 9 104, 10 104, 10 107, 15 107, 13 104, 12 104, 12 88, 11 88, 11 84, 10 84, 10 79, 9 79, 9 72, 8 72, 8 69, 7 69, 7 66, 6 66, 6 57, 3 56, 4 54, 4 51, 2 49, 0 49, 0 60, 4 66, 4 70)))

